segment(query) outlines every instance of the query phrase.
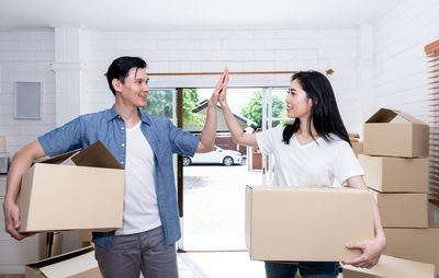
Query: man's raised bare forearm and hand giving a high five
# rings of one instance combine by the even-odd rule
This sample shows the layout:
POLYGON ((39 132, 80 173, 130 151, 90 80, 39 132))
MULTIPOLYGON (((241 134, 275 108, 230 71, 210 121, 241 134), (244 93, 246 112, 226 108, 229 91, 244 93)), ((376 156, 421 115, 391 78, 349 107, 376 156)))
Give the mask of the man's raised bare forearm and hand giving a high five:
POLYGON ((212 96, 207 104, 207 118, 204 125, 203 131, 201 131, 200 143, 195 152, 210 152, 213 151, 213 146, 216 136, 216 121, 217 121, 217 108, 218 97, 224 86, 227 86, 228 69, 225 68, 221 76, 215 89, 213 90, 212 96))

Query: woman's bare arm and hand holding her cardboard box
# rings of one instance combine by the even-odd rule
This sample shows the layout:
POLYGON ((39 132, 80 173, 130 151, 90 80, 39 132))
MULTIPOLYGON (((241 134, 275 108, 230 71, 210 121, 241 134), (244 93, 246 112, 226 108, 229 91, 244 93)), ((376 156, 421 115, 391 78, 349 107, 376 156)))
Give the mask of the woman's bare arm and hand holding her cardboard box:
MULTIPOLYGON (((347 182, 348 186, 351 188, 368 190, 368 186, 362 176, 352 176, 348 178, 347 182)), ((371 268, 378 264, 380 256, 385 248, 384 230, 381 224, 381 217, 375 200, 373 200, 373 227, 375 233, 373 240, 346 245, 349 250, 361 250, 362 255, 352 260, 345 262, 345 264, 356 267, 371 268)))

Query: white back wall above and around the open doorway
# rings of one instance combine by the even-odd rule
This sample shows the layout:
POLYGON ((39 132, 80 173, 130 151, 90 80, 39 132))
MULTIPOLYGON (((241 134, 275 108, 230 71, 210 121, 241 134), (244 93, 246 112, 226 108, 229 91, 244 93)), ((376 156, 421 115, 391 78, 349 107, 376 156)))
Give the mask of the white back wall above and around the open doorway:
MULTIPOLYGON (((330 77, 349 131, 361 131, 358 28, 90 31, 85 112, 109 107, 103 72, 123 55, 146 59, 149 72, 288 71, 315 69, 330 77)), ((212 86, 218 77, 151 77, 150 86, 212 86)), ((232 76, 230 85, 285 85, 286 76, 232 76)))

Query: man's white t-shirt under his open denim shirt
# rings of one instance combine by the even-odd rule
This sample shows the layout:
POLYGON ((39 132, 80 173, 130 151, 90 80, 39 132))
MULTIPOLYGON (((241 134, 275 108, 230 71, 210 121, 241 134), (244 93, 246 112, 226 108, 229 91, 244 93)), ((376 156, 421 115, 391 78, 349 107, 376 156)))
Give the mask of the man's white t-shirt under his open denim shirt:
POLYGON ((154 152, 139 121, 126 129, 123 227, 116 235, 145 232, 161 224, 154 179, 154 152))

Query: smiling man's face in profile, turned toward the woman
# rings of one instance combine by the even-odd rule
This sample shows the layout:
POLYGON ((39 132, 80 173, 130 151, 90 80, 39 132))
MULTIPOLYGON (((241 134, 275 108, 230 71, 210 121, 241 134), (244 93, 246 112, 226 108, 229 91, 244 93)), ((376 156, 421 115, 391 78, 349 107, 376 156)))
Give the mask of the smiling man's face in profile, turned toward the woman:
POLYGON ((149 93, 148 74, 144 69, 132 68, 124 83, 117 81, 114 89, 120 92, 123 104, 134 107, 144 107, 149 93))

